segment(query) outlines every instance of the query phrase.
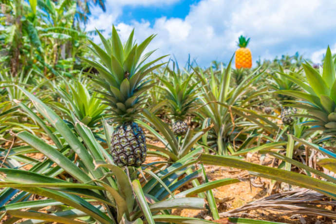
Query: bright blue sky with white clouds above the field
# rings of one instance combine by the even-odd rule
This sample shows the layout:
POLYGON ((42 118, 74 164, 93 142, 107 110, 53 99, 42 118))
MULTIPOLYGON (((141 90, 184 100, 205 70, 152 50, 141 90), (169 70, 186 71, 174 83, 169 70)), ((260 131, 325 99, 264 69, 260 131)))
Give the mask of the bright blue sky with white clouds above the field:
MULTIPOLYGON (((336 53, 334 0, 106 0, 105 13, 92 9, 87 30, 111 32, 122 39, 132 28, 144 40, 157 34, 149 50, 175 55, 180 64, 191 58, 202 66, 227 62, 237 49, 238 36, 251 38, 253 63, 299 52, 320 62, 327 45, 336 53)), ((94 37, 98 41, 97 37, 94 37)))

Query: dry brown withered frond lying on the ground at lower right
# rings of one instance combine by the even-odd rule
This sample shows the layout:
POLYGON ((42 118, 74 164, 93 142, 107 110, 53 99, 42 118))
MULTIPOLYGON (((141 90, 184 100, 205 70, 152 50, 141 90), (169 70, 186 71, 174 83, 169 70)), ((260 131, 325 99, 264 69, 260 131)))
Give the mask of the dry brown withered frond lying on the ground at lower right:
POLYGON ((249 210, 275 210, 291 214, 321 215, 336 219, 336 212, 325 209, 325 206, 336 206, 336 201, 327 201, 323 194, 314 190, 296 189, 273 194, 250 202, 242 207, 220 213, 221 217, 229 217, 249 210))

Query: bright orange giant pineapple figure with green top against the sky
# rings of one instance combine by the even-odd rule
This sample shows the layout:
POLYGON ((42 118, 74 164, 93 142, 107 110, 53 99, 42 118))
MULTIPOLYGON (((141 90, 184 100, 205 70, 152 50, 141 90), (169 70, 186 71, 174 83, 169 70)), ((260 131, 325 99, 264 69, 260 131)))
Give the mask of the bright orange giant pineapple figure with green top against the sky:
POLYGON ((246 39, 241 35, 238 39, 238 47, 235 56, 236 69, 250 69, 252 67, 252 54, 250 49, 247 48, 250 38, 246 39))

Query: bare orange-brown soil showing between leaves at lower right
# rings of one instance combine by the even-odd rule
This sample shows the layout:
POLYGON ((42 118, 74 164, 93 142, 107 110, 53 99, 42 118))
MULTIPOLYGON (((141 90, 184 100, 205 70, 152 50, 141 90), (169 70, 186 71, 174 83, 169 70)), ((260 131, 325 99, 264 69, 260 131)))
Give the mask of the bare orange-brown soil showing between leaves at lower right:
MULTIPOLYGON (((219 212, 225 212, 237 207, 241 207, 248 202, 260 199, 267 196, 267 190, 265 186, 255 187, 251 184, 250 176, 245 171, 230 170, 224 167, 206 166, 206 175, 209 181, 214 181, 223 178, 239 178, 244 177, 239 183, 226 185, 213 190, 214 197, 217 200, 217 206, 219 212)), ((264 180, 262 180, 264 181, 264 180)), ((258 179, 257 181, 258 182, 258 179)), ((192 216, 197 218, 210 218, 207 211, 179 209, 173 212, 175 215, 192 216)), ((277 212, 273 210, 252 210, 243 215, 237 215, 234 217, 266 220, 288 224, 334 224, 332 220, 325 219, 324 217, 306 216, 306 215, 293 215, 277 212)))

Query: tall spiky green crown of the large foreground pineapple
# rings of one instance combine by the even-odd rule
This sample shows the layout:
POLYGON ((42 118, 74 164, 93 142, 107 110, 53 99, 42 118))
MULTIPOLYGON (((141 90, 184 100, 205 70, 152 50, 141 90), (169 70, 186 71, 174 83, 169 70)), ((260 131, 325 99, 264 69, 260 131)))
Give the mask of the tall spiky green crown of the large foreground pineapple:
POLYGON ((150 72, 166 63, 155 66, 153 64, 167 55, 145 63, 155 52, 154 50, 143 54, 155 35, 150 35, 142 43, 135 44, 133 30, 126 43, 122 45, 114 26, 110 39, 105 39, 98 30, 97 33, 104 49, 89 40, 92 46, 89 48, 98 60, 85 58, 83 60, 98 70, 99 75, 95 76, 93 81, 103 87, 104 90, 98 92, 104 95, 105 103, 111 106, 115 121, 132 121, 145 101, 145 98, 140 95, 155 85, 152 80, 148 79, 150 72))

